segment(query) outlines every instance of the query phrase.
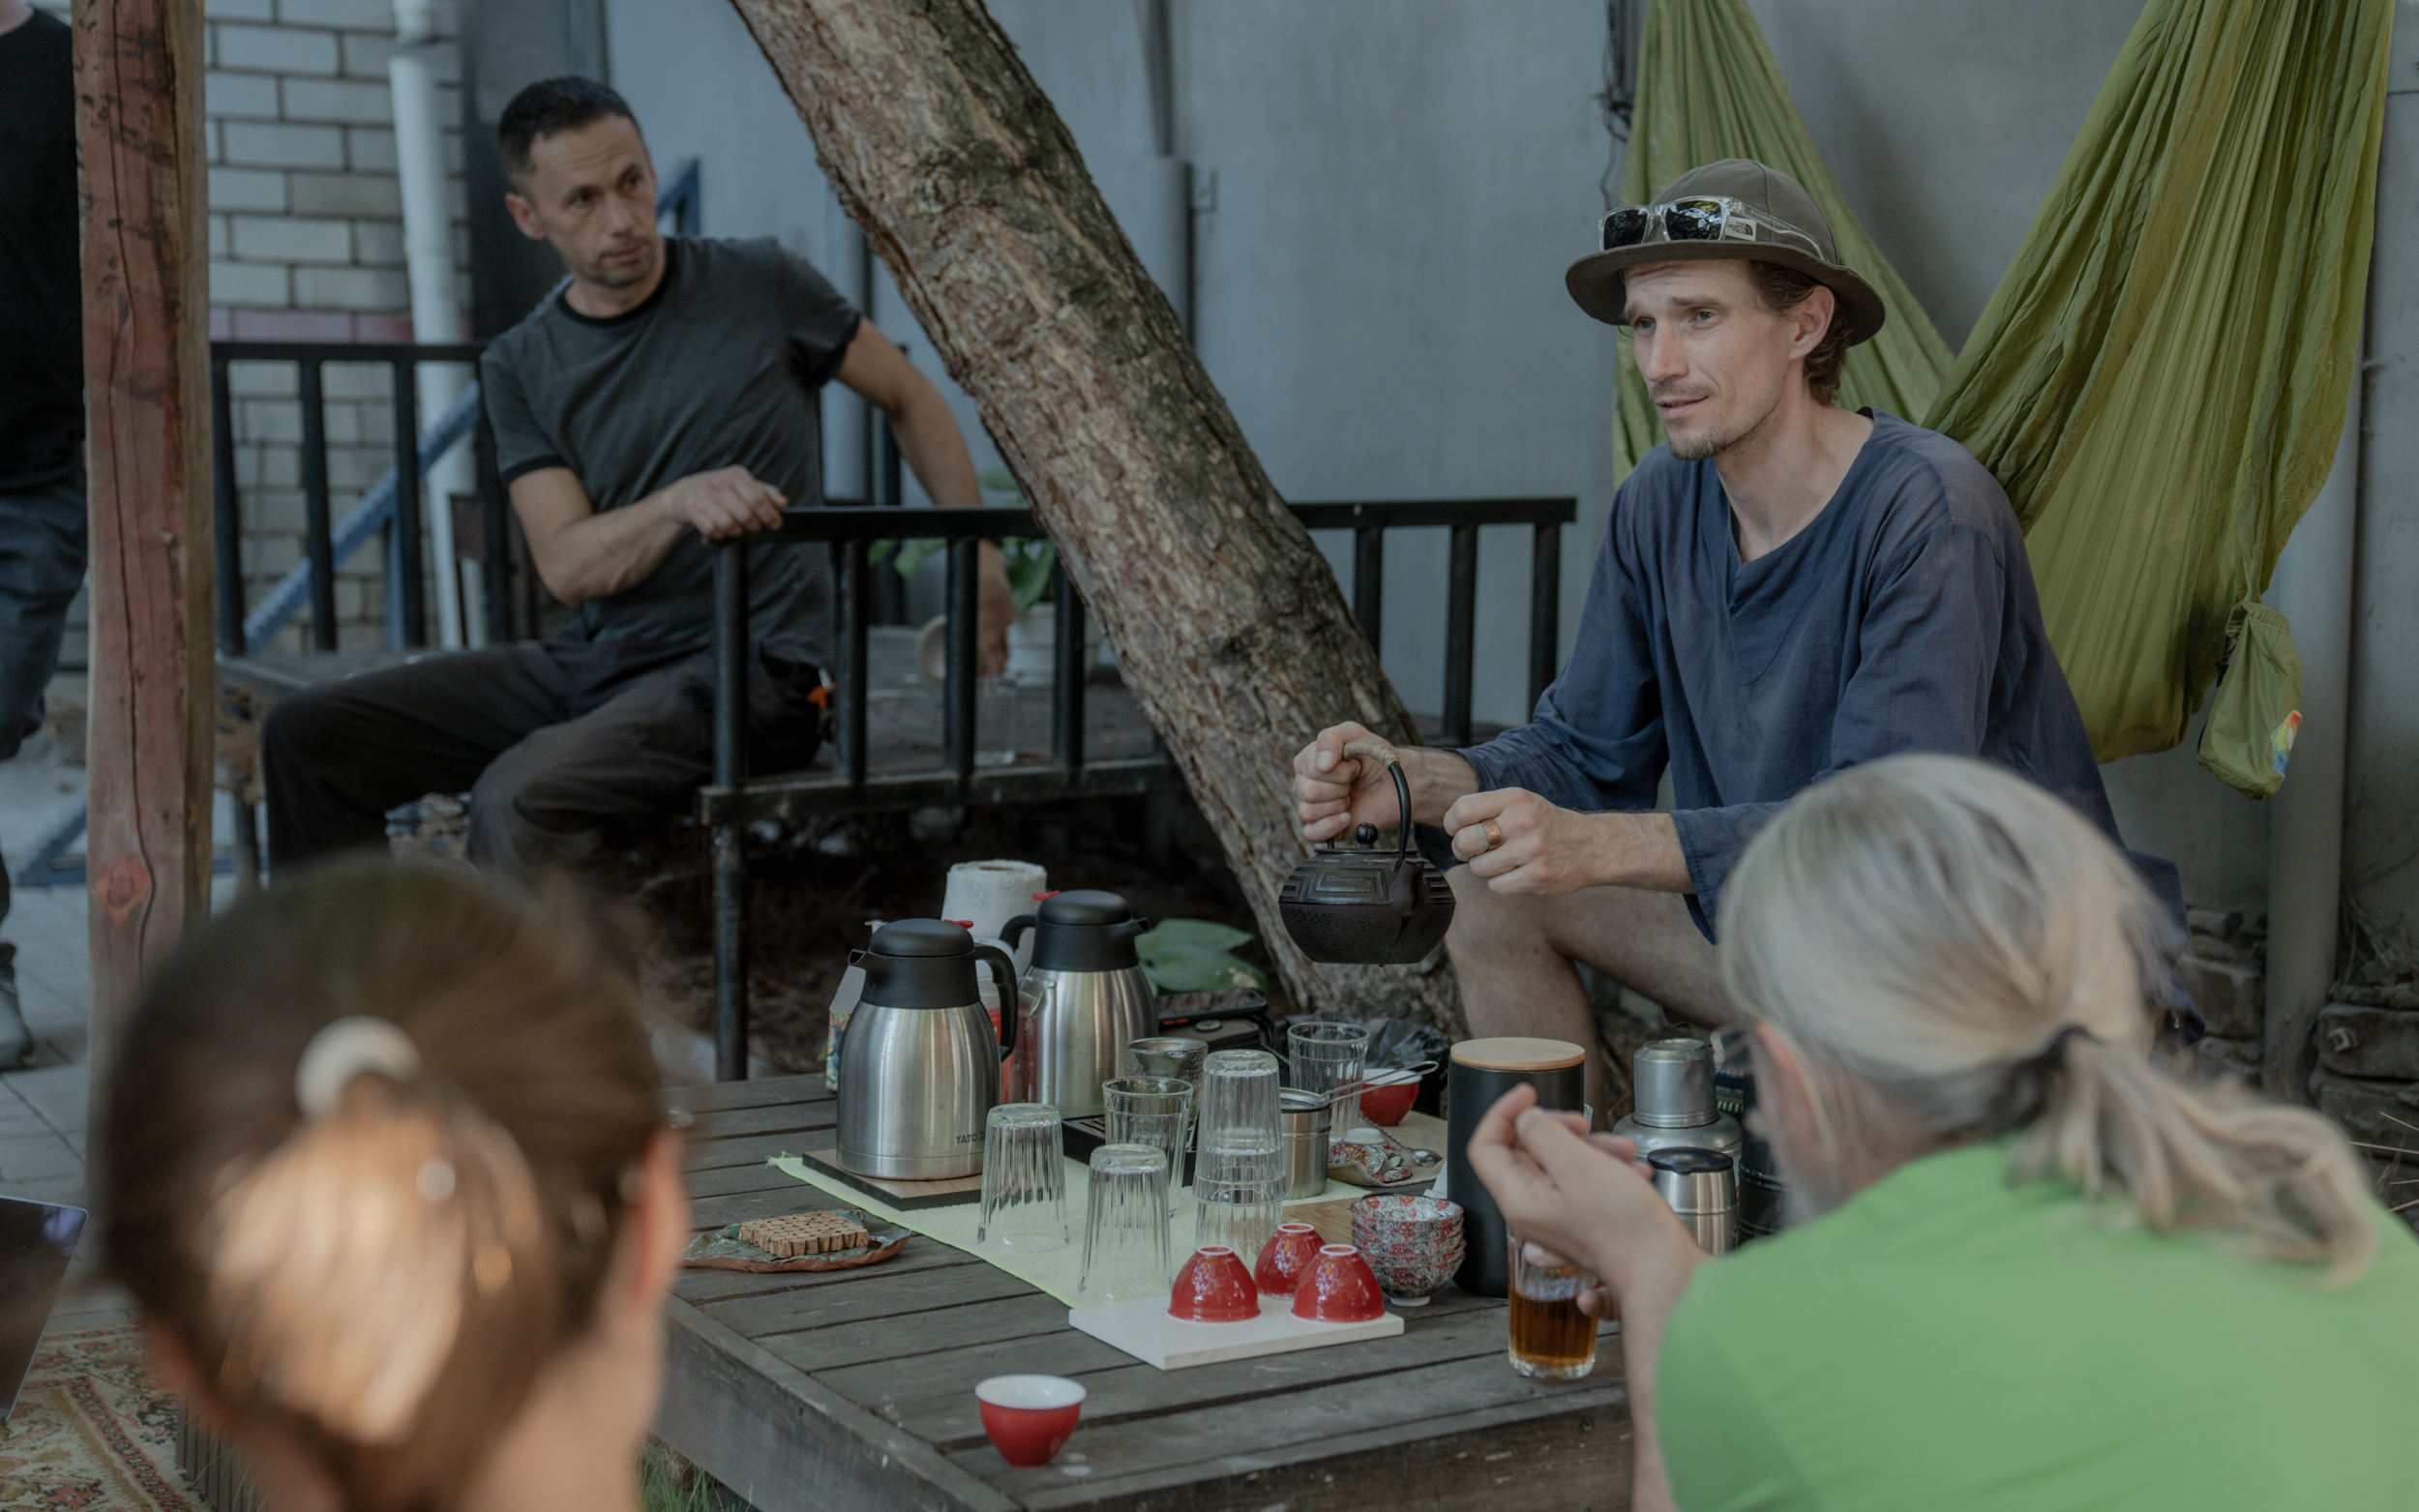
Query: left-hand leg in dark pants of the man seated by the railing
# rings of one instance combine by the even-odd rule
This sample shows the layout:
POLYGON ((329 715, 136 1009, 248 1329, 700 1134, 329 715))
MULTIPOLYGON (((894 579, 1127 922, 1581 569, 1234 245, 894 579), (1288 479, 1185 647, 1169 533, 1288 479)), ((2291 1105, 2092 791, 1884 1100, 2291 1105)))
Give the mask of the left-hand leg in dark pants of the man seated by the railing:
POLYGON ((544 646, 423 656, 278 699, 261 721, 271 866, 385 847, 389 808, 467 791, 576 706, 576 675, 544 646))

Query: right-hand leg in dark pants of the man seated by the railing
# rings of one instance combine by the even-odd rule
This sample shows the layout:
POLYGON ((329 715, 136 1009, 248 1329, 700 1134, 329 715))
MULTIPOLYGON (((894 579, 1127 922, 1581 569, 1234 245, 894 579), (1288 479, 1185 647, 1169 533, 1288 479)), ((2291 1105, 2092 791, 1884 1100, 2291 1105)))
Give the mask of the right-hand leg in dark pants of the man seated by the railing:
MULTIPOLYGON (((752 762, 803 764, 815 752, 818 682, 813 668, 750 670, 752 762)), ((692 656, 496 757, 472 789, 469 856, 523 885, 552 868, 581 868, 605 849, 610 830, 692 808, 711 772, 714 660, 692 656)))

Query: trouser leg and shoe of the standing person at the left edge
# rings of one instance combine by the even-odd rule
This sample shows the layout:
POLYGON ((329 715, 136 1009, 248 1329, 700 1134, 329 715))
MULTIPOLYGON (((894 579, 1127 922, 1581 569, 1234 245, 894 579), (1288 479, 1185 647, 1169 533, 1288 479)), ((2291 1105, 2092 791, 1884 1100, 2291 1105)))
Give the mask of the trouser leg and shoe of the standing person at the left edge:
MULTIPOLYGON (((41 728, 41 692, 58 670, 58 636, 85 581, 85 474, 0 496, 0 760, 41 728)), ((7 919, 0 856, 0 922, 7 919)), ((17 946, 0 943, 0 1067, 34 1060, 17 1011, 17 946)))

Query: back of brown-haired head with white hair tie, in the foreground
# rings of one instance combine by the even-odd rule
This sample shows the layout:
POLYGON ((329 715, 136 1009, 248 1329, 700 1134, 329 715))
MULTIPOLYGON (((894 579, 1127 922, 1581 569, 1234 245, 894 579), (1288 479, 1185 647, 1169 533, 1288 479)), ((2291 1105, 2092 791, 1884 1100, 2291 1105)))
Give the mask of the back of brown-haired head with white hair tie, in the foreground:
POLYGON ((239 902, 150 977, 97 1154, 106 1265, 266 1505, 636 1507, 689 1210, 568 905, 411 866, 239 902))

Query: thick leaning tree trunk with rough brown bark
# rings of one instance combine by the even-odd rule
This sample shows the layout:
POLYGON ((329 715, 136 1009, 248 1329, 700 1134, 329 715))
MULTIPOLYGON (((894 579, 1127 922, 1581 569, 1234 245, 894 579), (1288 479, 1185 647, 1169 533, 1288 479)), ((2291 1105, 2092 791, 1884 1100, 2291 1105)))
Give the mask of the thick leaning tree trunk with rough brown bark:
POLYGON ((1314 965, 1284 934, 1294 752, 1345 719, 1418 735, 1014 44, 980 0, 733 2, 1115 639, 1294 1002, 1459 1028, 1451 970, 1314 965))

